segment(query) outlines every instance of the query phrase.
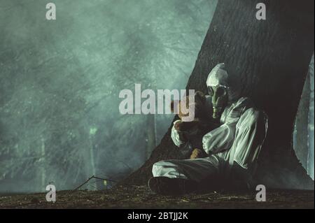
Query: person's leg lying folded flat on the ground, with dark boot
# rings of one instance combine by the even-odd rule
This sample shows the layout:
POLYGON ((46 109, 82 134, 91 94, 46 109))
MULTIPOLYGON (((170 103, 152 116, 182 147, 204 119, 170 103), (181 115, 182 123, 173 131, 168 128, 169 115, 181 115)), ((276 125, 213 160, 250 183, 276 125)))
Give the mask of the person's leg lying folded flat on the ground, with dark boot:
POLYGON ((186 194, 200 188, 204 180, 218 174, 220 161, 211 156, 202 159, 167 160, 153 165, 148 186, 158 194, 186 194))

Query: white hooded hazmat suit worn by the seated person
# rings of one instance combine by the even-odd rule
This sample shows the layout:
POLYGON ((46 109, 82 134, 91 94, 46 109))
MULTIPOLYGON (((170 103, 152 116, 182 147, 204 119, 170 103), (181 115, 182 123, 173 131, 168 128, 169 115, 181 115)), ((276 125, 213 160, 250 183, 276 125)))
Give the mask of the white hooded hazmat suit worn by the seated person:
MULTIPOLYGON (((250 99, 238 98, 239 85, 235 80, 231 81, 224 68, 224 64, 218 64, 207 79, 208 87, 227 87, 229 100, 220 118, 221 126, 202 138, 203 149, 209 157, 158 161, 153 164, 154 177, 182 178, 196 182, 216 176, 230 178, 235 165, 245 175, 253 175, 267 134, 267 115, 254 108, 250 99)), ((211 100, 207 100, 207 103, 211 103, 211 100)), ((186 143, 180 140, 179 131, 174 126, 171 136, 177 147, 186 143)))

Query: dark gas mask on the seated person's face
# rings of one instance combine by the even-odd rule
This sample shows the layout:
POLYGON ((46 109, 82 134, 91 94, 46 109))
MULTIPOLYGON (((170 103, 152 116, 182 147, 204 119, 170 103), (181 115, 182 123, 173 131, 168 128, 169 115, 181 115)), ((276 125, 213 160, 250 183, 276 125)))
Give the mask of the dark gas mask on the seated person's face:
POLYGON ((218 120, 228 103, 228 87, 225 87, 224 85, 208 86, 208 92, 212 97, 212 108, 214 108, 212 117, 215 120, 218 120))

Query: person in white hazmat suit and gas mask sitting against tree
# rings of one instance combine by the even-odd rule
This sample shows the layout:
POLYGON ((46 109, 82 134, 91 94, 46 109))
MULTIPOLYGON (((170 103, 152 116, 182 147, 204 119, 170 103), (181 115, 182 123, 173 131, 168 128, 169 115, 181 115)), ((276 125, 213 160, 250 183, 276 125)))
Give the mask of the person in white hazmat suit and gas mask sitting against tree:
MULTIPOLYGON (((219 127, 202 137, 204 151, 200 154, 206 156, 153 164, 153 178, 148 181, 153 192, 175 195, 218 185, 244 188, 251 185, 267 134, 267 115, 254 108, 251 99, 239 96, 239 82, 228 75, 225 64, 212 69, 207 87, 209 96, 206 101, 213 108, 209 112, 214 120, 218 120, 219 127)), ((171 136, 179 148, 187 143, 174 126, 171 136)))

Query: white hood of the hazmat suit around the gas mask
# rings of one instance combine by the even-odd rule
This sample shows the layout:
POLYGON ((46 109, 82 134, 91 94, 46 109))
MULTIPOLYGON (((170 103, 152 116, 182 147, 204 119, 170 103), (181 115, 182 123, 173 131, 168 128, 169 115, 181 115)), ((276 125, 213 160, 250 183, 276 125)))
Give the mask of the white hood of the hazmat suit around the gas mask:
POLYGON ((228 92, 228 102, 237 101, 240 96, 240 84, 238 79, 233 79, 225 69, 225 64, 217 64, 208 75, 207 87, 224 86, 228 92))

